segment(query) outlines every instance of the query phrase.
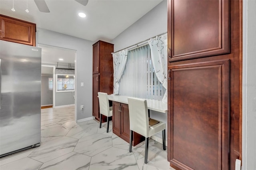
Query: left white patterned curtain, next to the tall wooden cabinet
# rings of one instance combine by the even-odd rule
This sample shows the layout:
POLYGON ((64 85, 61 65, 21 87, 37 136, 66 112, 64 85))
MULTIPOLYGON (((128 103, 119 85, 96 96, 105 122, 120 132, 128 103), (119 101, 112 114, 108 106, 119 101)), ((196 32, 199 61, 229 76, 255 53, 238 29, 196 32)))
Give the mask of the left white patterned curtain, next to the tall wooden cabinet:
POLYGON ((127 60, 127 49, 113 53, 114 66, 114 94, 119 94, 119 80, 124 72, 127 60))

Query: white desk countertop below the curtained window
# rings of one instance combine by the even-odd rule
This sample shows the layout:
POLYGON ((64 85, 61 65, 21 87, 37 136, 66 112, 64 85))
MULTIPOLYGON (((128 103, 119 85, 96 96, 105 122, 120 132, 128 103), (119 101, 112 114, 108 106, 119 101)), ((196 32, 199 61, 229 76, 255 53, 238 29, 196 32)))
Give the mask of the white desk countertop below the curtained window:
MULTIPOLYGON (((128 104, 129 96, 122 96, 122 95, 108 95, 108 99, 111 101, 116 101, 119 103, 128 104)), ((162 101, 146 99, 148 104, 148 109, 152 111, 158 111, 162 113, 167 113, 167 103, 163 103, 162 101)))

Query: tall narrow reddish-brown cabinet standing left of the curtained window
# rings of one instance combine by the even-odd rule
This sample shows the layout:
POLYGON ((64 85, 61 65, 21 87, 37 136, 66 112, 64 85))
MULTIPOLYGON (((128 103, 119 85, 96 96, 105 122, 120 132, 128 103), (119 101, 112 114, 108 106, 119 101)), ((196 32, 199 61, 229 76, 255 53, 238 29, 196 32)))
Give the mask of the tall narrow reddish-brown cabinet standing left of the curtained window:
MULTIPOLYGON (((113 93, 113 57, 114 44, 98 41, 92 45, 92 116, 100 120, 98 92, 113 93)), ((102 116, 103 122, 106 117, 102 116)))

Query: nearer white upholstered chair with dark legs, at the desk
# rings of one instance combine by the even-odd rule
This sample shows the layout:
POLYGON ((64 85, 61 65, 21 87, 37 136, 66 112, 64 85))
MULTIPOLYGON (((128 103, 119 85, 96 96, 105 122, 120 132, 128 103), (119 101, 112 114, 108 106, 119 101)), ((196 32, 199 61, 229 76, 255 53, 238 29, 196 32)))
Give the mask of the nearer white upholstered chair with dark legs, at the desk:
POLYGON ((129 107, 129 119, 130 119, 130 146, 129 152, 132 152, 132 140, 133 132, 137 132, 145 137, 145 164, 148 163, 148 138, 152 135, 162 131, 163 149, 166 150, 165 146, 165 129, 166 124, 157 121, 159 123, 150 126, 148 118, 148 106, 147 101, 144 99, 137 99, 133 97, 128 98, 129 107))

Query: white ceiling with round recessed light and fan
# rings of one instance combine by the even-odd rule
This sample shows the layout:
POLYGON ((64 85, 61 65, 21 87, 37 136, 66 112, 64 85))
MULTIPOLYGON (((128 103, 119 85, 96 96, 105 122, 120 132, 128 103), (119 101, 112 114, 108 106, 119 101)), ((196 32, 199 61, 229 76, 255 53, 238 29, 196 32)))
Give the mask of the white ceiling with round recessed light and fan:
POLYGON ((112 41, 162 0, 89 0, 86 6, 75 0, 45 1, 50 13, 40 12, 34 0, 14 0, 15 12, 13 0, 0 0, 0 13, 92 42, 112 41), (80 18, 79 12, 86 18, 80 18))

